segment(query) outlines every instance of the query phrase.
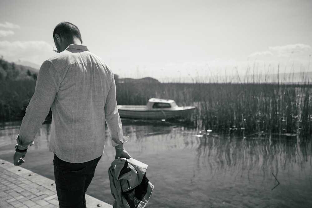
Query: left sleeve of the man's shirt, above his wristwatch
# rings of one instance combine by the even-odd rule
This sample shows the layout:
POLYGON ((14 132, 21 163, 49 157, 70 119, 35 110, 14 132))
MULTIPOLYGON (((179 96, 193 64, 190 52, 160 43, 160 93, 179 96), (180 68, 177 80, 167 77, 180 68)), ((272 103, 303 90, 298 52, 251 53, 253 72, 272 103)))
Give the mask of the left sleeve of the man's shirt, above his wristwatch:
POLYGON ((59 80, 59 72, 56 71, 51 61, 43 62, 37 76, 35 93, 26 108, 20 127, 17 137, 18 145, 27 147, 34 142, 58 92, 59 80))

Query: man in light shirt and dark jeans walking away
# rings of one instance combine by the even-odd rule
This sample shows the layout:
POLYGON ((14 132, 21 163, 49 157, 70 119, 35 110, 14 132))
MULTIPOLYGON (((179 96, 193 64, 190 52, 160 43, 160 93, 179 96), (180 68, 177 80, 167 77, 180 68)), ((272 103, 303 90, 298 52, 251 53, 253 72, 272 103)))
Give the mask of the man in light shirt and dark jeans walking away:
POLYGON ((53 31, 58 54, 43 62, 35 93, 17 137, 14 165, 25 162, 41 124, 52 111, 49 151, 54 152, 56 191, 62 207, 86 207, 85 192, 104 151, 105 121, 116 158, 130 158, 123 143, 113 72, 82 45, 79 29, 70 22, 53 31))

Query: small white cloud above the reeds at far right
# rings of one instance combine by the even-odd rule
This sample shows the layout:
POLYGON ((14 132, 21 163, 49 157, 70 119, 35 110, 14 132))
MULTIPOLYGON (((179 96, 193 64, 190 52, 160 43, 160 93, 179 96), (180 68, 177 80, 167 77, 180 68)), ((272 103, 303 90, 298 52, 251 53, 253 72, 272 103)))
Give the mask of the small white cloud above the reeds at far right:
POLYGON ((277 52, 279 56, 287 56, 291 53, 304 53, 311 49, 310 45, 305 44, 293 44, 293 45, 286 45, 286 46, 272 46, 269 47, 271 51, 277 52))

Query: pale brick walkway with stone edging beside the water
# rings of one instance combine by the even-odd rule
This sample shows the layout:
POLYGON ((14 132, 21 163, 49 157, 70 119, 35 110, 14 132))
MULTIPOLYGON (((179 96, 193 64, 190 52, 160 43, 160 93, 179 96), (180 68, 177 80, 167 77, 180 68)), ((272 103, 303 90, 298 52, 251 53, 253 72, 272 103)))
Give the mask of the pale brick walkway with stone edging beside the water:
MULTIPOLYGON (((58 207, 53 180, 2 159, 0 174, 0 208, 58 207)), ((113 207, 89 195, 85 198, 88 208, 113 207)))

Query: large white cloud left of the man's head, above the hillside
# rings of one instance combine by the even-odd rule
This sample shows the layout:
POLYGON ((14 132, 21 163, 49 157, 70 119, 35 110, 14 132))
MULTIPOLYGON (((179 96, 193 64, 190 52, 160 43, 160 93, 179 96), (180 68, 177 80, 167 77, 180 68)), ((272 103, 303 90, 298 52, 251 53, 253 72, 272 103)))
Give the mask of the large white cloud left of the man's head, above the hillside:
POLYGON ((7 61, 29 61, 37 65, 50 58, 53 46, 45 41, 0 41, 0 56, 7 61))

